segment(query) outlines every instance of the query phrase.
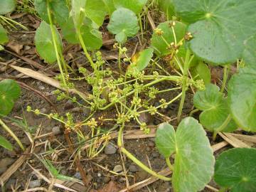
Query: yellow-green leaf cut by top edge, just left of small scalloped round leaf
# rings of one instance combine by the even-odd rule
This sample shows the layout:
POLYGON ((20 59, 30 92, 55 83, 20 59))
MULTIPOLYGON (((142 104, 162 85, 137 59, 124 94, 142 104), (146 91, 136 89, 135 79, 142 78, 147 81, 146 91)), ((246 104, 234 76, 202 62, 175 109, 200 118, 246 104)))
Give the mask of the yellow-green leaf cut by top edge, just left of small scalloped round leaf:
POLYGON ((107 9, 102 0, 87 0, 85 4, 85 14, 98 26, 102 26, 107 14, 107 9))

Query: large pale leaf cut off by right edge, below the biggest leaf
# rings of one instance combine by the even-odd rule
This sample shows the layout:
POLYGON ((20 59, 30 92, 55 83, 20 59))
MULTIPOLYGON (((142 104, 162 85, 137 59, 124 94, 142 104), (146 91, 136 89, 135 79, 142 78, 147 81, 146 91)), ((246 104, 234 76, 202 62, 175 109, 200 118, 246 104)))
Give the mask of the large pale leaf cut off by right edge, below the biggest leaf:
POLYGON ((228 82, 233 119, 249 132, 256 132, 256 65, 253 66, 240 69, 228 82))

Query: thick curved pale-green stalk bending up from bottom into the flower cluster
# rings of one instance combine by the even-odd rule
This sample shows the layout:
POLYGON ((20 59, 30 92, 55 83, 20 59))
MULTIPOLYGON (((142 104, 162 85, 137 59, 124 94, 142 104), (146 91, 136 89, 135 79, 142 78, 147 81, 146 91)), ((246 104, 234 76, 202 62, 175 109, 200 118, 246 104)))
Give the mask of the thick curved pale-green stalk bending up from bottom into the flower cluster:
POLYGON ((137 164, 137 166, 139 166, 140 168, 142 168, 144 171, 148 172, 152 176, 160 178, 164 181, 171 181, 171 178, 168 178, 166 176, 162 176, 160 174, 157 174, 155 171, 153 171, 153 170, 149 169, 149 167, 145 166, 141 161, 139 161, 139 159, 137 159, 129 151, 127 151, 127 149, 124 149, 123 144, 122 144, 122 132, 123 132, 123 130, 124 130, 124 124, 119 129, 118 139, 117 139, 117 145, 119 146, 119 149, 122 151, 122 153, 124 153, 129 159, 134 161, 134 163, 137 164))

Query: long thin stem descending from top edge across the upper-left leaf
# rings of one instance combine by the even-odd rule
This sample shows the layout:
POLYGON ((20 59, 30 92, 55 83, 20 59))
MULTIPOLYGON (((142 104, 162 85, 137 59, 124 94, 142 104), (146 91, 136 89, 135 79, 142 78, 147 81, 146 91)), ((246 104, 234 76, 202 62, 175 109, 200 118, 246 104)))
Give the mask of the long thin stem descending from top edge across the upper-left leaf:
POLYGON ((50 15, 49 0, 47 0, 46 2, 47 2, 48 18, 49 18, 49 21, 50 21, 50 31, 51 31, 52 36, 53 36, 53 46, 54 46, 54 50, 55 50, 55 55, 56 55, 56 58, 57 58, 58 67, 60 68, 60 74, 61 74, 61 78, 63 80, 63 84, 65 85, 65 87, 67 87, 67 83, 65 81, 65 76, 64 76, 64 73, 63 73, 63 68, 62 68, 61 63, 60 63, 60 56, 59 56, 58 46, 57 46, 57 43, 56 43, 57 34, 55 33, 55 28, 53 27, 53 20, 52 20, 51 15, 50 15))

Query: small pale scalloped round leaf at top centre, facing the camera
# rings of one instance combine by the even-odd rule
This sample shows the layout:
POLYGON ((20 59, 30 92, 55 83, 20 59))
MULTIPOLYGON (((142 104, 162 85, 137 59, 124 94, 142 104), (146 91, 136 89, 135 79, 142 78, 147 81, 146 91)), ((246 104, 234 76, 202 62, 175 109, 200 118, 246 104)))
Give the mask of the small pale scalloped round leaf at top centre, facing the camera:
MULTIPOLYGON (((132 37, 139 31, 137 16, 129 9, 119 8, 112 14, 107 28, 115 35, 124 33, 127 37, 132 37)), ((123 37, 124 34, 121 36, 123 37)), ((120 38, 120 35, 116 38, 118 43, 124 43, 123 41, 120 41, 123 39, 124 38, 120 38)))

